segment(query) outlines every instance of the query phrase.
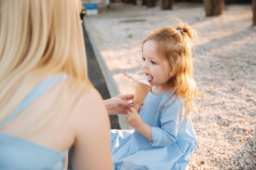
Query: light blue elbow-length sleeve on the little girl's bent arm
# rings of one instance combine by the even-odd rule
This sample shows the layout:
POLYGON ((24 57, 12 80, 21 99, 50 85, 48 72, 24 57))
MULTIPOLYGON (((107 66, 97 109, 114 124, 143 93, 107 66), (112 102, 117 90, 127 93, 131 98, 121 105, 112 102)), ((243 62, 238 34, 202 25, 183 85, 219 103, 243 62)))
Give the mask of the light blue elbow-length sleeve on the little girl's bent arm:
POLYGON ((181 106, 180 102, 176 100, 171 106, 164 108, 159 127, 151 126, 151 134, 153 142, 152 146, 164 147, 172 144, 177 139, 177 134, 181 126, 181 106))

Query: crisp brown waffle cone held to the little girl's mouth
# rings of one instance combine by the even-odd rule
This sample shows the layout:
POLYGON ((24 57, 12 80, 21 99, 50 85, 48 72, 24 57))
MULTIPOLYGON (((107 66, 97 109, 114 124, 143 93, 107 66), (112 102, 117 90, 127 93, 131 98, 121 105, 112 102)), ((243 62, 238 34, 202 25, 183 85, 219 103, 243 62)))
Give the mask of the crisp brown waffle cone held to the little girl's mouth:
POLYGON ((146 95, 148 94, 151 88, 152 88, 151 85, 138 81, 135 87, 134 100, 133 100, 132 107, 134 107, 136 110, 139 110, 139 107, 141 106, 143 100, 145 99, 146 95))

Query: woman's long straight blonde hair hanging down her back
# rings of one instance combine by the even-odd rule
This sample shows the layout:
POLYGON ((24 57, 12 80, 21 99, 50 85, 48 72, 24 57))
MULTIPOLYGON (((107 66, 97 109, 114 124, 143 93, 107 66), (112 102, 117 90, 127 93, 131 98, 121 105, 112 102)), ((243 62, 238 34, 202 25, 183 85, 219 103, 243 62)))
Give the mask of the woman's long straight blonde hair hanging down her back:
POLYGON ((90 88, 80 11, 79 0, 0 0, 0 122, 49 75, 67 75, 55 111, 90 88))

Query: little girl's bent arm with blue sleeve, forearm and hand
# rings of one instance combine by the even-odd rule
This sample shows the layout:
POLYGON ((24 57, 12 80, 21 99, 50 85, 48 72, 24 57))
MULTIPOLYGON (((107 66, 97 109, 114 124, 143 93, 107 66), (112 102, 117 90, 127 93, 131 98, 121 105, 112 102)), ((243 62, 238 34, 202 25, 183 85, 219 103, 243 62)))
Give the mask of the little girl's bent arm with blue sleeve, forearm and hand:
POLYGON ((128 111, 126 121, 141 135, 149 139, 152 146, 168 146, 177 139, 181 126, 180 107, 180 102, 176 100, 171 106, 164 108, 159 127, 151 127, 146 124, 134 108, 130 108, 130 111, 128 111))

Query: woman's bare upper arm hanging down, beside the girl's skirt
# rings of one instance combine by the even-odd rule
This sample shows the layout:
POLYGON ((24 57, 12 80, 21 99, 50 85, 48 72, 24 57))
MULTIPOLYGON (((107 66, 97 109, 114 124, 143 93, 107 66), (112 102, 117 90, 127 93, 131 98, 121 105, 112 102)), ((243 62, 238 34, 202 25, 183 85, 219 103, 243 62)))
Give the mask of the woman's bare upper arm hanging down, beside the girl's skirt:
POLYGON ((75 170, 112 170, 110 156, 110 121, 99 93, 93 88, 81 101, 74 118, 75 170))

